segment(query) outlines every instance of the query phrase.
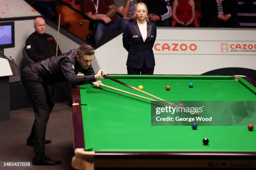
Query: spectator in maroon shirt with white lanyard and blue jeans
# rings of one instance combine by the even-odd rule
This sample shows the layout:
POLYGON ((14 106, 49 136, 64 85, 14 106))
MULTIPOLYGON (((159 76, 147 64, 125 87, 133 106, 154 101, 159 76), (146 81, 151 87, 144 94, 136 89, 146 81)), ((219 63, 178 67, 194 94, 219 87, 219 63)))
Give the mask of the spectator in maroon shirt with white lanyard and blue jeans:
POLYGON ((82 10, 86 16, 97 21, 94 37, 96 44, 106 30, 124 30, 129 23, 115 16, 117 9, 113 0, 83 0, 82 10))

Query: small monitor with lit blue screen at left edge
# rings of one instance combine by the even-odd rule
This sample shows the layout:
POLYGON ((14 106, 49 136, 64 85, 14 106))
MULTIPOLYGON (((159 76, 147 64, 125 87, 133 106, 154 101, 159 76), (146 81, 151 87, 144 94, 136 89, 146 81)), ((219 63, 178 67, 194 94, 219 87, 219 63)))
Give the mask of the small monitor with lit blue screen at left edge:
POLYGON ((0 49, 14 46, 14 22, 0 23, 0 49))

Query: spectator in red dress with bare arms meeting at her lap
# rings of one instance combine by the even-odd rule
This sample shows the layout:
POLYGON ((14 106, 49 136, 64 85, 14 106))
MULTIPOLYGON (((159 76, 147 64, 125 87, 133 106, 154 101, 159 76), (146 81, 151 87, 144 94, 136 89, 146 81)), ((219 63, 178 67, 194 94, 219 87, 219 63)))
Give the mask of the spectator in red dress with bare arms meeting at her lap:
POLYGON ((194 0, 174 0, 172 5, 172 26, 179 27, 199 27, 198 17, 200 14, 195 10, 194 0))

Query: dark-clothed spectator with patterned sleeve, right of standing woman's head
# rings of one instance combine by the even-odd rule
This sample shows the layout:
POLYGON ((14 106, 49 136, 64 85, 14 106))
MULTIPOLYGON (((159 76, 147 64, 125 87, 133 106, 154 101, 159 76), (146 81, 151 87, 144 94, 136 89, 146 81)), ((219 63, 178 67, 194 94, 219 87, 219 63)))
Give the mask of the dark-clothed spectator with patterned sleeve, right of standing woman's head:
POLYGON ((170 0, 139 0, 148 7, 148 18, 156 26, 171 26, 172 6, 170 0))

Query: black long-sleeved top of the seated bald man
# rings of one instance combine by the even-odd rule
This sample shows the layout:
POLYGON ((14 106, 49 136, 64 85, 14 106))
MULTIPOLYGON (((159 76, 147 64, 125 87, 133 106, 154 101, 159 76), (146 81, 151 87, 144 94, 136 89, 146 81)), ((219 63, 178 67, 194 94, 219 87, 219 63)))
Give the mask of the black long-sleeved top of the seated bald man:
MULTIPOLYGON (((57 43, 54 37, 50 34, 38 34, 33 32, 26 40, 26 51, 28 57, 34 62, 45 60, 56 55, 57 43)), ((61 50, 58 47, 58 55, 61 55, 61 50)))

